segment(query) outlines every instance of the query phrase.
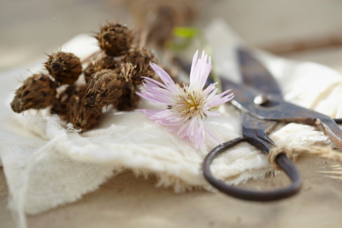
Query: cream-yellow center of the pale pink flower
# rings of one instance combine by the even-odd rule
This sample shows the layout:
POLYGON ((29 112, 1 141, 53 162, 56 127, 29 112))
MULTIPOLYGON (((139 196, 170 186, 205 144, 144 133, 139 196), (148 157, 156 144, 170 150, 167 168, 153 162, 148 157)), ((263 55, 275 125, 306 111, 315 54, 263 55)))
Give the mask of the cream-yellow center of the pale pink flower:
POLYGON ((183 89, 180 88, 175 100, 176 102, 171 105, 171 109, 177 112, 176 115, 186 119, 199 115, 204 116, 203 107, 206 104, 206 99, 202 96, 202 90, 190 89, 188 86, 184 86, 183 89))

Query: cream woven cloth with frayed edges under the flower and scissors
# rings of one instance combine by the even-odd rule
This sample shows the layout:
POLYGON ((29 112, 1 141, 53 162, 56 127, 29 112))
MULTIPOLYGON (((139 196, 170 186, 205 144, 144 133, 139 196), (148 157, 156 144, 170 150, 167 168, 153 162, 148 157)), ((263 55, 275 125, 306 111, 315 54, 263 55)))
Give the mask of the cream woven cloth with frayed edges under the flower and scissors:
MULTIPOLYGON (((213 48, 217 72, 238 81, 234 48, 242 42, 221 21, 208 26, 206 37, 213 48)), ((96 48, 96 42, 84 35, 63 45, 62 51, 84 57, 96 48)), ((189 54, 189 61, 194 52, 189 54)), ((289 61, 260 51, 255 55, 276 77, 285 100, 332 118, 342 117, 339 73, 316 63, 289 61)), ((217 145, 209 135, 203 148, 194 149, 191 142, 179 139, 168 127, 134 111, 109 110, 100 125, 82 134, 46 110, 16 114, 10 102, 20 72, 28 76, 22 68, 0 75, 0 158, 10 192, 9 206, 20 226, 25 226, 25 213, 36 214, 74 202, 122 169, 154 174, 159 178, 158 186, 172 186, 176 192, 211 189, 201 172, 203 158, 217 145)), ((143 107, 157 106, 141 102, 143 107)), ((204 119, 205 127, 223 142, 241 136, 239 111, 229 104, 215 111, 222 115, 204 119)), ((271 138, 280 146, 331 144, 315 127, 301 124, 279 125, 271 138)), ((248 143, 219 156, 211 168, 214 176, 232 184, 263 178, 272 171, 266 156, 248 143)))

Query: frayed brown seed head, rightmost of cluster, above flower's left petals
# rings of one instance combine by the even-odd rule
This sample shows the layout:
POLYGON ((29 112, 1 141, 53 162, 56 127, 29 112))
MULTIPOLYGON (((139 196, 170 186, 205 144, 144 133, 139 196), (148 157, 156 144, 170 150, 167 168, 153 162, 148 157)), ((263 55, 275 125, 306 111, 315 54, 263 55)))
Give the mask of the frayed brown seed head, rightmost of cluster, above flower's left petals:
POLYGON ((130 51, 120 65, 120 75, 127 81, 140 84, 144 77, 153 77, 155 72, 149 63, 158 64, 157 58, 145 48, 136 48, 130 51))

